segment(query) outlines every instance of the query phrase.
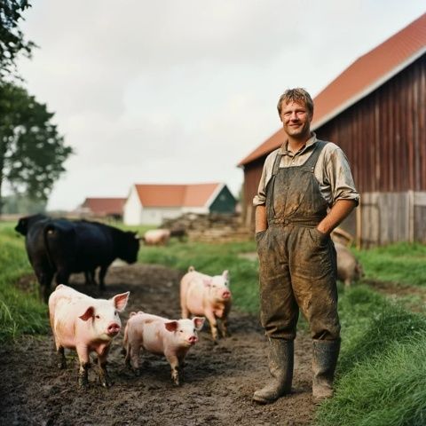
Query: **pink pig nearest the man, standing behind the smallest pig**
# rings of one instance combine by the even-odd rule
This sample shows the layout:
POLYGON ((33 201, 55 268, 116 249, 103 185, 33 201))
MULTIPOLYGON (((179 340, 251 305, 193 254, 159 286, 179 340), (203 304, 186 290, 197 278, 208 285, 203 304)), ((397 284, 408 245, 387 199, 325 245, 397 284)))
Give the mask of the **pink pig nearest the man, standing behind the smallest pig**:
POLYGON ((228 314, 231 310, 232 295, 229 289, 229 272, 210 277, 197 272, 190 266, 180 281, 180 306, 182 318, 191 314, 209 319, 213 342, 217 343, 217 319, 221 319, 222 337, 228 333, 228 314))

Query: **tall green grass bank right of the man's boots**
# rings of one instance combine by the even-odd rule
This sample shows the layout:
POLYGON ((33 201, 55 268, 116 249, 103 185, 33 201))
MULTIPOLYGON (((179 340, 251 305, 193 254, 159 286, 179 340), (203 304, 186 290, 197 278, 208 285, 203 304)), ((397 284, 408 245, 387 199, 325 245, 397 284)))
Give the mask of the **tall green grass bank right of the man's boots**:
POLYGON ((319 407, 315 424, 426 424, 426 318, 369 288, 345 293, 335 397, 319 407))

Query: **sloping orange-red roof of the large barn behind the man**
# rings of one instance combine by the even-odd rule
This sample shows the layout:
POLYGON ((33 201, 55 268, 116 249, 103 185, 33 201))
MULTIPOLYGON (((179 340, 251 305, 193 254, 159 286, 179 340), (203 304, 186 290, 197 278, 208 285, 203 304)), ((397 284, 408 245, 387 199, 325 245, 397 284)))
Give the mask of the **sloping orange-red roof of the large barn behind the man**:
MULTIPOLYGON (((375 49, 357 59, 313 99, 315 130, 352 106, 359 99, 397 75, 426 51, 426 13, 375 49)), ((272 150, 285 140, 282 128, 238 164, 243 166, 272 150)))

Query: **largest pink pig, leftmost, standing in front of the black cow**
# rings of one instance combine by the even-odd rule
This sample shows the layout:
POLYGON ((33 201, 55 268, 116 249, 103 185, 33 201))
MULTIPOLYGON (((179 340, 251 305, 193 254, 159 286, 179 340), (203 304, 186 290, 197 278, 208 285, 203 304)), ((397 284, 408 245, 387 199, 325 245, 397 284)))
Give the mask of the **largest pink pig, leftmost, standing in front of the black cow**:
POLYGON ((91 351, 98 354, 99 383, 104 387, 111 385, 106 372, 106 357, 113 338, 121 330, 118 312, 126 307, 129 295, 128 291, 109 300, 94 299, 63 284, 51 293, 49 317, 59 368, 67 367, 64 348, 77 351, 80 387, 88 384, 91 351))

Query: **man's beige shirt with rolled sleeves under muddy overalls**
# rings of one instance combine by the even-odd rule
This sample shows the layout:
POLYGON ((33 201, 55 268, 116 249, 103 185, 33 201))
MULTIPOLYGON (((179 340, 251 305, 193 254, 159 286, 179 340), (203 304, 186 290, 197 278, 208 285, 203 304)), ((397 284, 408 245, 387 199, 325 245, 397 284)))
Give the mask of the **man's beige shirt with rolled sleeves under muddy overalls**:
MULTIPOLYGON (((272 151, 264 161, 264 170, 260 178, 259 188, 253 205, 263 205, 266 201, 265 188, 272 177, 272 168, 277 154, 282 154, 280 168, 301 166, 312 154, 312 145, 319 140, 315 133, 312 133, 306 145, 296 154, 288 151, 288 141, 272 151)), ((328 206, 332 207, 337 200, 354 200, 359 203, 359 193, 355 189, 353 177, 348 159, 342 149, 335 144, 328 142, 319 154, 314 176, 319 183, 319 191, 327 201, 328 206)))

